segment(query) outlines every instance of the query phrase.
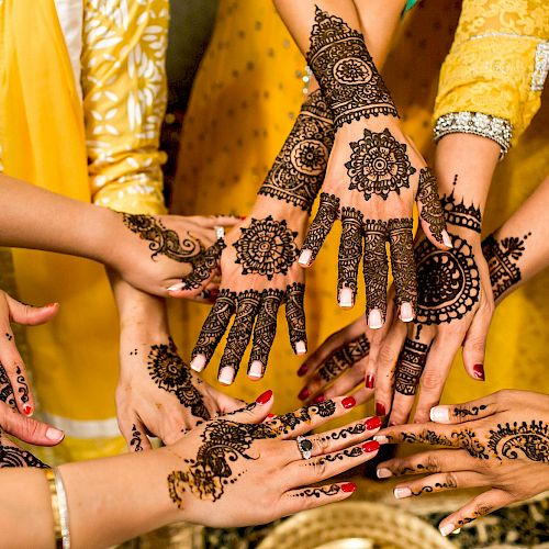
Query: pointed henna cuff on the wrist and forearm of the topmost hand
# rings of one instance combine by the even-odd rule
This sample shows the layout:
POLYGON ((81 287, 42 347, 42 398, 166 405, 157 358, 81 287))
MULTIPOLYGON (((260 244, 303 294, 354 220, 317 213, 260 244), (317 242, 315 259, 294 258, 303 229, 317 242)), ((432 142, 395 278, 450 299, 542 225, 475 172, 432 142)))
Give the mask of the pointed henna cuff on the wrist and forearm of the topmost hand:
POLYGON ((363 36, 318 7, 306 58, 332 108, 335 128, 379 114, 397 116, 363 36))

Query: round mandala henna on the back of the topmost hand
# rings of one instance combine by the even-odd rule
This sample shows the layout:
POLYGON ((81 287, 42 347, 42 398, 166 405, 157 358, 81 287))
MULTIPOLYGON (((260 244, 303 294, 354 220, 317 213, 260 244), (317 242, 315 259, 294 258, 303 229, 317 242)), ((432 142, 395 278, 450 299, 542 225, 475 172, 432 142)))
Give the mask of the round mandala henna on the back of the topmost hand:
POLYGON ((371 132, 365 127, 361 139, 349 144, 352 153, 345 165, 350 179, 349 190, 363 193, 365 200, 378 194, 386 200, 391 192, 410 188, 415 168, 406 155, 406 145, 396 141, 389 128, 371 132))

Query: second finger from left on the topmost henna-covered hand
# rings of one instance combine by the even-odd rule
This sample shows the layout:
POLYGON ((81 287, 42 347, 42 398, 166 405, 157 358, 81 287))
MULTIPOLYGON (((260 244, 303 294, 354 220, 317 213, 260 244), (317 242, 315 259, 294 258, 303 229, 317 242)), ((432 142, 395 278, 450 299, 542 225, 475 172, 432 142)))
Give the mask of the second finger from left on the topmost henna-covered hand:
POLYGON ((343 209, 337 270, 337 300, 341 307, 355 304, 358 265, 362 258, 362 224, 363 216, 358 210, 343 209))

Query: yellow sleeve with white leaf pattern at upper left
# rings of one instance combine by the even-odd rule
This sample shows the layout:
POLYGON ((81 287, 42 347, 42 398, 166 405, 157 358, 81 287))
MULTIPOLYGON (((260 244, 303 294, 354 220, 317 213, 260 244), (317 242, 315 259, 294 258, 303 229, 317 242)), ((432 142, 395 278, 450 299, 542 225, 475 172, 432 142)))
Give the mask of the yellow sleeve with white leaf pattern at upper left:
POLYGON ((94 204, 165 213, 159 150, 169 1, 86 0, 82 92, 94 204))

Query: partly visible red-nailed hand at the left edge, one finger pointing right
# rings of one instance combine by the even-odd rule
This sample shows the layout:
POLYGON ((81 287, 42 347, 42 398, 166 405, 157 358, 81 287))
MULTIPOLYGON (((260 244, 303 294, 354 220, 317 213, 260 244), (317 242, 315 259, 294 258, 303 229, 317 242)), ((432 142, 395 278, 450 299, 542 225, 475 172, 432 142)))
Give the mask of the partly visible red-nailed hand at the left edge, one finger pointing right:
POLYGON ((10 322, 24 326, 36 326, 52 320, 59 305, 51 303, 43 307, 24 305, 0 290, 0 401, 8 402, 27 416, 34 412, 35 403, 26 368, 15 345, 10 322))

